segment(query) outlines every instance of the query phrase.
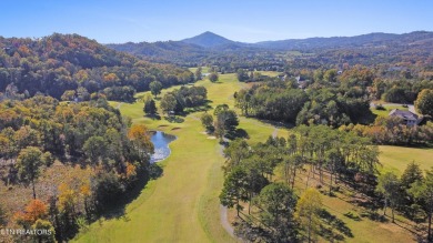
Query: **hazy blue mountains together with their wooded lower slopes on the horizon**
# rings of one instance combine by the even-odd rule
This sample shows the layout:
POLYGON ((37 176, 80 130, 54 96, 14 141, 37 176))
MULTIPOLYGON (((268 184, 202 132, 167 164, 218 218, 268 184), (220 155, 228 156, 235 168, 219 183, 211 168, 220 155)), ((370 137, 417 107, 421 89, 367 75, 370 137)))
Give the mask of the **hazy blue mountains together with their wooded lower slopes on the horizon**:
POLYGON ((229 40, 207 31, 180 41, 128 42, 108 44, 107 47, 129 52, 149 61, 184 67, 195 67, 203 63, 229 63, 231 60, 239 59, 236 57, 241 57, 239 59, 243 60, 241 62, 249 62, 252 58, 259 55, 268 57, 261 59, 266 60, 270 63, 269 65, 274 65, 275 62, 281 65, 283 60, 275 55, 276 52, 300 51, 302 53, 315 53, 315 57, 322 54, 321 58, 325 59, 329 55, 326 52, 348 50, 351 51, 351 54, 345 53, 344 55, 352 57, 352 59, 345 58, 340 61, 355 62, 353 57, 363 57, 362 63, 365 64, 390 60, 396 62, 396 60, 412 59, 411 57, 414 55, 429 59, 433 55, 433 32, 414 31, 402 34, 376 32, 355 37, 288 39, 245 43, 229 40), (403 58, 403 55, 406 58, 403 58))

